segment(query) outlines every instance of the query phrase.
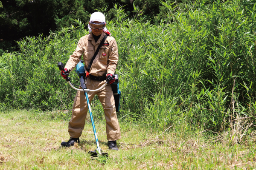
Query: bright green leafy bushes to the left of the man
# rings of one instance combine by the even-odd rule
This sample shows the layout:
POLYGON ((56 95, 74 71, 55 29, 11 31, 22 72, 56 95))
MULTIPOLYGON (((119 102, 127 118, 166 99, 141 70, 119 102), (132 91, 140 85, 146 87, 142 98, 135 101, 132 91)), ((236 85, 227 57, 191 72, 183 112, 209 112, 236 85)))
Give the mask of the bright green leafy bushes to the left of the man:
MULTIPOLYGON (((81 25, 81 27, 84 26, 81 25)), ((57 76, 59 73, 55 67, 60 60, 67 62, 67 57, 64 60, 62 58, 73 53, 78 38, 82 36, 76 28, 71 28, 72 34, 67 34, 69 28, 64 28, 59 32, 50 33, 50 36, 46 38, 26 37, 18 42, 20 53, 3 54, 1 62, 3 108, 14 106, 21 109, 48 110, 49 108, 71 107, 69 103, 75 92, 70 91, 71 89, 66 91, 66 87, 58 83, 62 79, 57 76), (5 59, 8 59, 8 62, 4 61, 5 59), (67 97, 68 99, 64 102, 60 99, 67 97)))

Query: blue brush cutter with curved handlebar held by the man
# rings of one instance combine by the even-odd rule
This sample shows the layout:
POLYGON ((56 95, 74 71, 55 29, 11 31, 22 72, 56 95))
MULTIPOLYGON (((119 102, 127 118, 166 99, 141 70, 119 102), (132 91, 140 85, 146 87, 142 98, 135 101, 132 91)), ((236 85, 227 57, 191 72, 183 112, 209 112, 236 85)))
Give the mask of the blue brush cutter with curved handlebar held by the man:
MULTIPOLYGON (((62 62, 58 62, 58 68, 62 71, 64 70, 64 65, 62 62)), ((95 129, 95 125, 94 125, 94 122, 93 122, 93 114, 92 114, 92 111, 91 111, 91 108, 90 108, 90 102, 89 102, 89 99, 88 99, 88 95, 87 95, 87 92, 90 92, 90 91, 99 91, 101 90, 102 88, 104 88, 107 84, 108 84, 108 81, 105 83, 105 85, 103 85, 101 88, 98 88, 96 90, 90 90, 90 89, 87 89, 86 88, 86 83, 84 82, 84 77, 85 77, 85 69, 84 69, 84 64, 83 64, 83 61, 80 60, 79 63, 76 65, 76 73, 77 75, 79 76, 80 78, 80 83, 81 85, 75 85, 75 86, 79 86, 81 87, 82 89, 78 89, 78 88, 75 88, 74 87, 74 84, 72 84, 70 82, 70 77, 67 77, 66 81, 69 83, 69 85, 75 89, 76 91, 84 91, 84 95, 86 97, 86 101, 87 101, 87 105, 88 105, 88 109, 89 109, 89 113, 90 113, 90 119, 91 119, 91 122, 92 122, 92 125, 93 125, 93 132, 94 132, 94 136, 95 136, 95 141, 96 141, 96 145, 97 145, 97 149, 94 150, 94 151, 89 151, 88 153, 91 155, 91 156, 105 156, 107 157, 108 156, 108 153, 103 153, 102 150, 100 149, 99 147, 99 141, 98 141, 98 137, 97 137, 97 133, 96 133, 96 129, 95 129)))

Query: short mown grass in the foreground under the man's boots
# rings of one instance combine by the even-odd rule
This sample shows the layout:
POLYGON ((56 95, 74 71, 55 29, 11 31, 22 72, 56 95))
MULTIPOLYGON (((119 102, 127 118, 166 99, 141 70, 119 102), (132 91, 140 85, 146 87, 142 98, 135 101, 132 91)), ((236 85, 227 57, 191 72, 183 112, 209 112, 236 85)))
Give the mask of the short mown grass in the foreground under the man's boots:
POLYGON ((47 115, 36 111, 0 113, 0 169, 256 168, 253 142, 232 145, 224 135, 219 142, 205 133, 180 133, 177 128, 160 135, 162 132, 127 122, 120 122, 119 151, 108 150, 105 122, 96 123, 100 146, 109 157, 91 159, 87 152, 95 150, 96 144, 90 121, 85 124, 80 144, 62 148, 60 143, 69 139, 68 121, 47 115))

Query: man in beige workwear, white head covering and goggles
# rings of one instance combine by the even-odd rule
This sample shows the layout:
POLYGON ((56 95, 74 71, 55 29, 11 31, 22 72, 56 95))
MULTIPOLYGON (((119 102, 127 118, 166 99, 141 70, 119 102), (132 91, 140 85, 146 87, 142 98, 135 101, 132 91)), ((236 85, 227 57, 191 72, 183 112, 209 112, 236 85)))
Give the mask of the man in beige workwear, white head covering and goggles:
MULTIPOLYGON (((69 73, 75 68, 82 55, 86 70, 100 42, 106 34, 110 34, 105 26, 106 21, 104 14, 101 12, 91 14, 88 24, 90 34, 81 37, 77 44, 76 51, 70 56, 64 71, 61 71, 61 76, 64 79, 67 78, 67 75, 64 74, 69 73)), ((118 51, 116 40, 108 36, 93 60, 89 73, 87 73, 87 75, 89 74, 89 78, 87 78, 86 82, 87 88, 91 90, 100 88, 105 84, 106 79, 108 79, 110 83, 113 83, 115 77, 112 76, 112 74, 114 74, 116 70, 117 61, 118 51)), ((111 150, 118 150, 116 140, 121 139, 121 133, 116 116, 116 106, 111 85, 106 85, 105 88, 97 92, 89 92, 88 98, 90 102, 95 94, 98 95, 105 113, 108 147, 111 150)), ((85 95, 83 92, 77 91, 72 108, 71 120, 68 126, 70 140, 68 142, 61 142, 61 146, 70 147, 73 146, 75 142, 79 143, 79 137, 84 129, 87 111, 88 107, 85 95)))

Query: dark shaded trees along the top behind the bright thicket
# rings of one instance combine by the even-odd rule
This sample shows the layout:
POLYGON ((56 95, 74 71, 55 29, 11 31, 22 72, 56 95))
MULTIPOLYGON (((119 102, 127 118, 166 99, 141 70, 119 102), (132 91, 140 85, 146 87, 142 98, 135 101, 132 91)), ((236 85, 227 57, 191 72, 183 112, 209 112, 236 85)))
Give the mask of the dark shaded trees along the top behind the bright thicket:
MULTIPOLYGON (((183 2, 187 0, 178 0, 183 2)), ((160 0, 1 0, 0 54, 17 50, 15 40, 26 36, 49 35, 49 30, 69 27, 74 19, 87 23, 90 14, 103 10, 107 19, 114 19, 114 5, 124 6, 128 17, 136 14, 134 6, 147 20, 165 17, 167 10, 160 0)))

